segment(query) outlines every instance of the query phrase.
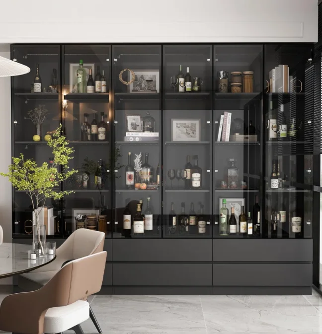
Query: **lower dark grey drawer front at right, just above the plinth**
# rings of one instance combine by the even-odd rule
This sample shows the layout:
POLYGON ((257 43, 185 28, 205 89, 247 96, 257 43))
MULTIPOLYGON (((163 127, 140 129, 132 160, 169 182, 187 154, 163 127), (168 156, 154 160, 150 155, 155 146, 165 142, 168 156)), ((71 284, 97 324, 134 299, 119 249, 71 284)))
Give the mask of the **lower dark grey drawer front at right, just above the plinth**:
POLYGON ((213 264, 215 286, 311 286, 312 264, 213 264))

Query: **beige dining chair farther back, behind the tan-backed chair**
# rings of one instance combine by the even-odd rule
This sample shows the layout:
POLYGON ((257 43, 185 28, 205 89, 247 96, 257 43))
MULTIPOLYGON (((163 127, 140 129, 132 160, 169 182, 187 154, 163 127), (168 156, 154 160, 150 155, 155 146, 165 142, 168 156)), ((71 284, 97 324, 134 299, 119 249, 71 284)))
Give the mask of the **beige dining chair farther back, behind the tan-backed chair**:
MULTIPOLYGON (((78 229, 59 247, 56 251, 56 259, 51 263, 35 269, 29 273, 18 276, 18 287, 23 291, 34 291, 45 285, 60 270, 62 265, 68 261, 103 251, 105 233, 78 229)), ((90 319, 95 325, 98 333, 101 328, 90 308, 90 319)))

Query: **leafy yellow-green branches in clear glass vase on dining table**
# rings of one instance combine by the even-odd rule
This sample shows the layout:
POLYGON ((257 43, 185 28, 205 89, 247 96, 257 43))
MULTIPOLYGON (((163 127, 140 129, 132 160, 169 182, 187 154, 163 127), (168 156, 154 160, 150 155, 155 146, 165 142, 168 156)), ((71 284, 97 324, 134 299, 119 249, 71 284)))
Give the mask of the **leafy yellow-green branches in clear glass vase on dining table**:
POLYGON ((46 252, 46 230, 43 236, 39 224, 41 211, 48 198, 57 200, 73 192, 61 191, 60 184, 78 172, 75 169, 70 169, 68 166, 69 161, 73 159, 71 155, 74 153, 74 150, 68 146, 69 143, 66 141, 66 137, 61 134, 61 130, 62 125, 56 129, 53 133, 53 138, 47 143, 52 148, 52 156, 54 157, 51 166, 48 163, 38 166, 34 160, 25 160, 23 154, 20 154, 19 158, 12 158, 12 164, 9 165, 7 173, 0 173, 0 175, 9 179, 13 187, 17 190, 25 191, 30 197, 35 221, 33 227, 33 247, 39 249, 42 256, 46 252))

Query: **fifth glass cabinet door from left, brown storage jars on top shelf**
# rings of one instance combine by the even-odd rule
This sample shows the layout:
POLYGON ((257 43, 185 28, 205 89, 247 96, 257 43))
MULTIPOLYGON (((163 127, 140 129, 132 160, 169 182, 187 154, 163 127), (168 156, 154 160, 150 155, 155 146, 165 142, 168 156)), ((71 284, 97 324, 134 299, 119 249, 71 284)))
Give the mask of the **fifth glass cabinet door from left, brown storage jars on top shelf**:
POLYGON ((261 45, 214 46, 214 238, 260 237, 261 45))

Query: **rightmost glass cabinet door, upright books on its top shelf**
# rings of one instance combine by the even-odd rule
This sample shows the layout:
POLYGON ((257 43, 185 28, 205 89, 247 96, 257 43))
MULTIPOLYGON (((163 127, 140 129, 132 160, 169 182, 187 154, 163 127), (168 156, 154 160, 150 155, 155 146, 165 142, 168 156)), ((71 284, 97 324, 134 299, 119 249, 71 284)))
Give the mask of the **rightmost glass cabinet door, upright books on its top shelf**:
POLYGON ((311 46, 265 46, 265 226, 269 238, 311 237, 314 67, 311 46))

